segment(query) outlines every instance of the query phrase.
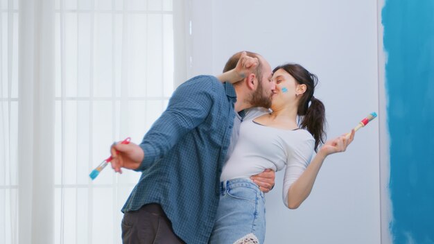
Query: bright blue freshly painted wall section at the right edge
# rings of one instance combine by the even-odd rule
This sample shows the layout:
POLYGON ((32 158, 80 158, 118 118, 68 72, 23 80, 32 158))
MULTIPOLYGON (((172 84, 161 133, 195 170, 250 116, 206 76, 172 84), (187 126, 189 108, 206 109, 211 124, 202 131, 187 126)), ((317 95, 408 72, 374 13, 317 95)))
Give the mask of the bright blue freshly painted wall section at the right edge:
POLYGON ((382 10, 393 243, 434 243, 434 1, 382 10))

